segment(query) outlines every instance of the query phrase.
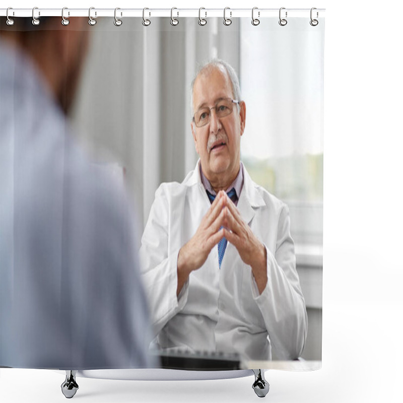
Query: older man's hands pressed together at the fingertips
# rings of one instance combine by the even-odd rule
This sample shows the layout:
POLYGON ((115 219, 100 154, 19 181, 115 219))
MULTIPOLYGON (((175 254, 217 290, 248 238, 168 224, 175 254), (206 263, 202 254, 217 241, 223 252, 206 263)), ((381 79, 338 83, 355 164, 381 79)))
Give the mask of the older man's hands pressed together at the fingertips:
POLYGON ((196 233, 179 251, 178 294, 189 274, 205 263, 213 247, 223 237, 236 247, 243 262, 252 267, 261 293, 267 283, 266 249, 242 220, 227 193, 221 190, 201 220, 196 233))

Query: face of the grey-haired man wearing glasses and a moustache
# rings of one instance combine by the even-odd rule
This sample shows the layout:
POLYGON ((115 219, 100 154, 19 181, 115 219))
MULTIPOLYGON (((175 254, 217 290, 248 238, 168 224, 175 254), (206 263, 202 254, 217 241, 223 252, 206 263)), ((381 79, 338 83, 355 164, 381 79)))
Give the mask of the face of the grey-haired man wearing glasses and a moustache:
MULTIPOLYGON (((192 121, 192 133, 196 152, 200 157, 201 169, 214 184, 230 185, 239 171, 240 143, 245 128, 245 103, 240 107, 230 102, 234 98, 232 84, 224 68, 214 67, 202 71, 193 86, 193 112, 198 121, 210 113, 210 121, 197 127, 192 121), (232 113, 219 117, 220 110, 232 108, 232 113), (210 109, 213 108, 213 109, 210 109), (208 112, 210 109, 210 112, 208 112), (207 112, 202 113, 200 112, 207 112)), ((239 100, 238 100, 239 101, 239 100)))

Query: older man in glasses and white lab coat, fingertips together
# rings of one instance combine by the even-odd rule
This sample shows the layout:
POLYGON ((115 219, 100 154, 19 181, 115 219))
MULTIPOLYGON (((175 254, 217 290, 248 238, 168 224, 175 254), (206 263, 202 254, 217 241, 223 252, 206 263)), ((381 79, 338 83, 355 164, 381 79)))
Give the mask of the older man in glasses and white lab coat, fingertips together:
POLYGON ((307 316, 289 211, 240 161, 246 106, 232 66, 217 59, 202 66, 192 95, 200 158, 182 183, 159 186, 142 237, 155 343, 296 359, 307 316))

